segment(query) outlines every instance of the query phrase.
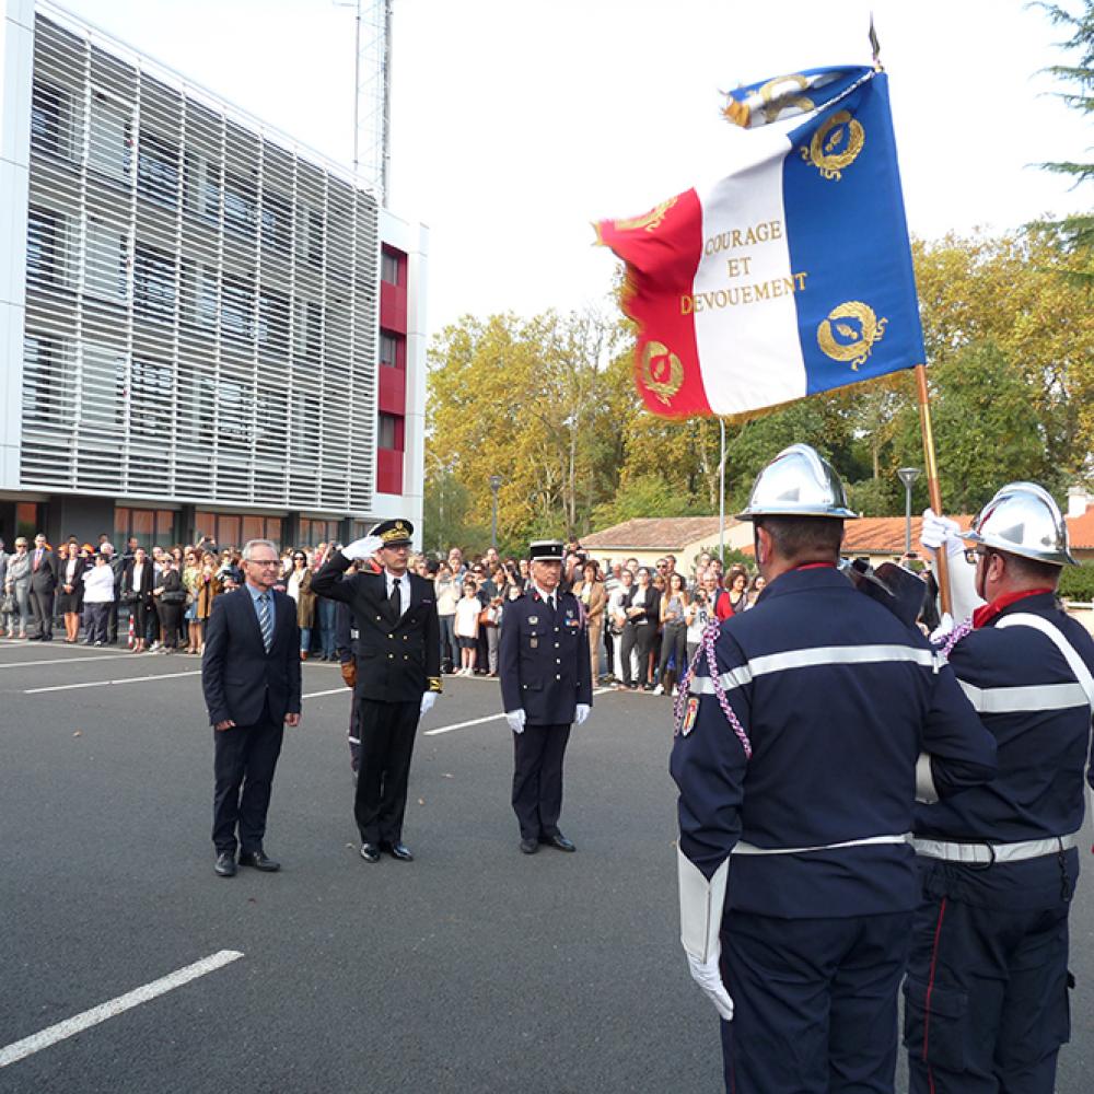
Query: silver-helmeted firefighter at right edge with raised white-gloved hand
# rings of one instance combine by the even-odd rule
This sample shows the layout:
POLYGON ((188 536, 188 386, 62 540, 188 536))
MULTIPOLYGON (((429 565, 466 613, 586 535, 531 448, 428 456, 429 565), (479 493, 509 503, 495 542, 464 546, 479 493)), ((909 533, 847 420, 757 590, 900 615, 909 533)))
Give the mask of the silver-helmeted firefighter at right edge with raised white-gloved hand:
POLYGON ((1070 1035, 1068 912, 1091 780, 1094 640, 1056 602, 1074 559, 1046 490, 1003 487, 963 538, 969 562, 957 525, 924 514, 924 546, 945 549, 955 592, 971 575, 981 602, 950 663, 998 742, 999 773, 916 813, 910 1090, 1051 1094, 1070 1035))

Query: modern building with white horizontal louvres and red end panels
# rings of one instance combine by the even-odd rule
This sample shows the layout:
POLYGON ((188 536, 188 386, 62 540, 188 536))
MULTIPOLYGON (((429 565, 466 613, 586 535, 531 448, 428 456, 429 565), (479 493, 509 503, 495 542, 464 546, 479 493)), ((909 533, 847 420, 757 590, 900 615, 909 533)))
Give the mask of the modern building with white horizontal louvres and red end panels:
POLYGON ((420 523, 424 230, 63 9, 0 2, 0 536, 420 523))

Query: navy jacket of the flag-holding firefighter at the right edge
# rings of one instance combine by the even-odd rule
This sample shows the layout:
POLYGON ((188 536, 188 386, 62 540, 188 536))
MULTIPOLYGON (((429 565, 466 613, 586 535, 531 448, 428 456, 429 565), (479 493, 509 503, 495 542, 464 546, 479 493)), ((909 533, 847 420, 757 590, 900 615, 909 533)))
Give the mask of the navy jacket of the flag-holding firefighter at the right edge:
MULTIPOLYGON (((1031 627, 999 626, 1031 614, 1052 624, 1094 672, 1094 640, 1056 607, 1052 593, 1024 596, 961 639, 954 673, 999 747, 999 773, 952 801, 919 805, 918 837, 948 842, 1017 843, 1069 836, 1083 823, 1091 708, 1063 654, 1031 627)), ((923 860, 924 891, 969 904, 1049 908, 1069 899, 1079 852, 1048 854, 991 869, 923 860)))

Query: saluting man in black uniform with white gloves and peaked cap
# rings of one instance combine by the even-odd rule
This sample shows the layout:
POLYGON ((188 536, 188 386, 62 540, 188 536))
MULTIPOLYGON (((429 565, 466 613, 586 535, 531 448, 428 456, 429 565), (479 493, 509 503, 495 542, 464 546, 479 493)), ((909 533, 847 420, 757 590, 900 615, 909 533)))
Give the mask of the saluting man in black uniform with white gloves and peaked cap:
POLYGON ((410 756, 418 720, 441 690, 441 629, 433 583, 407 572, 414 525, 382 521, 372 534, 337 551, 312 578, 312 591, 348 604, 357 629, 361 743, 353 816, 361 858, 380 852, 410 862, 403 842, 410 756), (376 555, 383 571, 342 578, 353 561, 376 555))

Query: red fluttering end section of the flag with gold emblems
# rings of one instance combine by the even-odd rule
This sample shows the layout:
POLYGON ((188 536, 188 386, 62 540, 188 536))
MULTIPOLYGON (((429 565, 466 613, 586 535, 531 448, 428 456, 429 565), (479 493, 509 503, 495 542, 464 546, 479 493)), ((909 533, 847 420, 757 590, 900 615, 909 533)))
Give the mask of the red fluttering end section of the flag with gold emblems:
POLYGON ((699 371, 690 298, 702 255, 702 206, 695 190, 662 201, 643 217, 604 220, 598 242, 627 264, 620 305, 638 324, 635 383, 651 414, 709 416, 699 371))

